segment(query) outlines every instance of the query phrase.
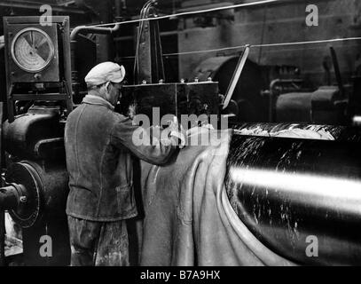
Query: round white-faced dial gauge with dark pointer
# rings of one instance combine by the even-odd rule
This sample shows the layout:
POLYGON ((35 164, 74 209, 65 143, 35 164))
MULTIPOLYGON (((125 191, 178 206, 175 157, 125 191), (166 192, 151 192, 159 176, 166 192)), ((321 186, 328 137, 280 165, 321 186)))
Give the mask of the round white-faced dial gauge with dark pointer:
POLYGON ((51 63, 54 45, 39 28, 22 29, 12 41, 12 59, 27 72, 42 71, 51 63))

